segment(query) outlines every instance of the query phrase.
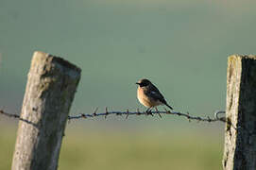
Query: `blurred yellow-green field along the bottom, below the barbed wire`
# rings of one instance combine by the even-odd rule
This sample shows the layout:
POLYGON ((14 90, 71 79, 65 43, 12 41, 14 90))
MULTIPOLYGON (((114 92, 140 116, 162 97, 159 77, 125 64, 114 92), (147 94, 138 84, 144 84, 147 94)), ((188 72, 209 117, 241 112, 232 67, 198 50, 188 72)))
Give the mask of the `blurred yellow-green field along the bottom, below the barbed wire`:
MULTIPOLYGON (((0 169, 4 170, 10 169, 16 129, 3 129, 0 169)), ((67 128, 60 151, 60 170, 221 169, 223 142, 216 135, 90 131, 67 128)))

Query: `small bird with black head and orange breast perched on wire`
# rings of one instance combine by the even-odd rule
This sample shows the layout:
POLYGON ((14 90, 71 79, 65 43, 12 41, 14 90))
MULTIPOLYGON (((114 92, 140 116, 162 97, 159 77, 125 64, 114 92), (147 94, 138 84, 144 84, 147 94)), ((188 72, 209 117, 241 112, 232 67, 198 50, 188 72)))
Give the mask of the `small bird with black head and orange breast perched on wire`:
POLYGON ((139 85, 137 89, 137 98, 141 104, 148 108, 146 112, 151 111, 151 109, 159 105, 165 105, 170 110, 173 110, 164 99, 162 93, 153 83, 151 83, 151 81, 143 78, 136 82, 136 84, 139 85))

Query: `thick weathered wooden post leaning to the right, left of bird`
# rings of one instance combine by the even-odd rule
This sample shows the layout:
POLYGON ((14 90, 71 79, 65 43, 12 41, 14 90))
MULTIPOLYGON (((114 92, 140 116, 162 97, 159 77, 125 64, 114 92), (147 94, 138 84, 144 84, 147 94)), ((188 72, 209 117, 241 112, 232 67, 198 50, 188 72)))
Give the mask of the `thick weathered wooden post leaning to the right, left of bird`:
POLYGON ((64 59, 35 52, 12 160, 12 170, 58 168, 60 145, 81 70, 64 59))

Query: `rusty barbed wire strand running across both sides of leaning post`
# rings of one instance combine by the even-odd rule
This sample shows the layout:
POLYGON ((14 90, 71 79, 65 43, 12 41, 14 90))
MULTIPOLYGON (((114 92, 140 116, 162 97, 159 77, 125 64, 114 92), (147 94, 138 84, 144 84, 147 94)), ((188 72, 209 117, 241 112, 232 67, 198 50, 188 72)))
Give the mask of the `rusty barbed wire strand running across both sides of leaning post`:
MULTIPOLYGON (((97 117, 97 116, 104 116, 105 119, 107 118, 107 116, 109 115, 126 115, 126 119, 128 119, 129 115, 151 115, 154 116, 155 114, 158 114, 161 118, 162 118, 162 114, 168 114, 168 115, 178 115, 178 116, 182 116, 185 117, 186 119, 190 121, 192 120, 196 120, 197 122, 224 122, 226 123, 226 117, 219 117, 219 114, 225 114, 224 110, 216 110, 214 112, 214 117, 210 118, 209 116, 207 117, 200 117, 200 116, 193 116, 190 115, 189 112, 186 113, 182 113, 182 112, 178 112, 178 111, 170 111, 170 110, 166 110, 164 109, 164 111, 162 110, 157 110, 155 109, 155 111, 140 111, 139 109, 137 109, 137 111, 109 111, 108 108, 106 107, 105 112, 101 112, 101 113, 97 113, 98 108, 96 108, 94 110, 93 113, 79 113, 77 115, 69 115, 68 116, 68 120, 75 120, 75 119, 87 119, 87 118, 93 118, 93 117, 97 117)), ((0 114, 6 115, 8 117, 12 117, 12 118, 17 118, 19 120, 22 121, 26 121, 27 123, 31 123, 23 118, 20 117, 20 115, 18 114, 14 114, 14 113, 8 113, 4 110, 0 110, 0 114)))

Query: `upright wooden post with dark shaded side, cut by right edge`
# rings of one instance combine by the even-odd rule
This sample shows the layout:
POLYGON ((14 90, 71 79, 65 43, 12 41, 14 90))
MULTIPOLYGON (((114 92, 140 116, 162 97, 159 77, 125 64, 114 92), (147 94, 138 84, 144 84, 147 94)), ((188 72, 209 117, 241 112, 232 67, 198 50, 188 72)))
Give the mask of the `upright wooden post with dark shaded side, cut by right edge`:
POLYGON ((256 56, 230 56, 223 168, 256 169, 256 56))

